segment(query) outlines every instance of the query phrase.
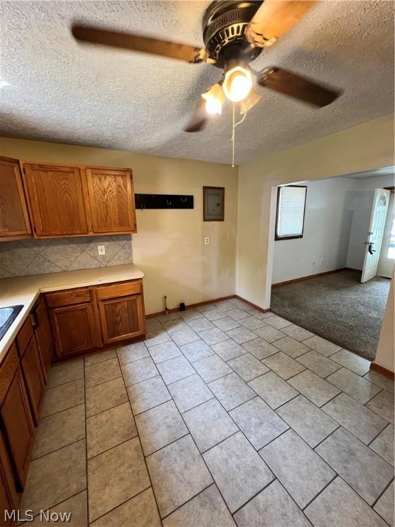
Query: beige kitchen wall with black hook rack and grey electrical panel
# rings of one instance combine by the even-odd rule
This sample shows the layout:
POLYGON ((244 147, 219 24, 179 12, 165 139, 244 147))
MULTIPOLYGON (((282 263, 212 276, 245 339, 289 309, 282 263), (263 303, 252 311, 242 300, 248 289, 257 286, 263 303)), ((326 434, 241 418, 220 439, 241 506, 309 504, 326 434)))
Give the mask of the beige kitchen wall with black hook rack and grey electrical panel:
POLYGON ((131 167, 134 189, 147 194, 193 194, 193 210, 136 211, 134 264, 145 272, 145 310, 235 294, 237 168, 73 145, 0 139, 4 156, 31 161, 131 167), (225 221, 202 221, 202 187, 225 187, 225 221), (204 245, 204 237, 210 244, 204 245))

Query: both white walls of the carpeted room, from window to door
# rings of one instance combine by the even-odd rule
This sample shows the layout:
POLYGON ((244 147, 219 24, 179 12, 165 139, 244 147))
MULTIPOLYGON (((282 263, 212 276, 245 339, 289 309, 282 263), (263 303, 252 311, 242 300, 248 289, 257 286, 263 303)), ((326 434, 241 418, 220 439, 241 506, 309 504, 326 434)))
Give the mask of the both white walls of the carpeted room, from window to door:
POLYGON ((394 185, 394 177, 328 178, 300 185, 307 185, 303 237, 274 242, 273 283, 344 267, 361 270, 374 189, 394 185))

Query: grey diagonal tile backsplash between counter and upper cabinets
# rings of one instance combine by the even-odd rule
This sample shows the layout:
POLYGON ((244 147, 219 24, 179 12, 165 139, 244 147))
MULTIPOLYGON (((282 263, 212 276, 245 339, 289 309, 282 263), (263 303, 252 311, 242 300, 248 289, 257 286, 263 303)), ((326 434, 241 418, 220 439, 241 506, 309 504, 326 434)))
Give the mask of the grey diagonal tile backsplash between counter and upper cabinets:
POLYGON ((132 235, 21 239, 0 243, 0 278, 132 264, 132 235), (104 245, 105 255, 99 255, 104 245))

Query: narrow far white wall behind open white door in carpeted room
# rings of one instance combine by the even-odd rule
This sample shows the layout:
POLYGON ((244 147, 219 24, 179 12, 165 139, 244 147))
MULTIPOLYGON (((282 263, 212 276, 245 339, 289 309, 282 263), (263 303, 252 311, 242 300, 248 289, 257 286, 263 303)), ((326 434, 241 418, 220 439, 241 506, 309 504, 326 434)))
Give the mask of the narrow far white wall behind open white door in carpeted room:
POLYGON ((376 176, 355 179, 357 188, 353 196, 352 225, 346 266, 362 270, 365 257, 363 242, 368 239, 370 215, 372 213, 374 189, 394 186, 394 176, 376 176))

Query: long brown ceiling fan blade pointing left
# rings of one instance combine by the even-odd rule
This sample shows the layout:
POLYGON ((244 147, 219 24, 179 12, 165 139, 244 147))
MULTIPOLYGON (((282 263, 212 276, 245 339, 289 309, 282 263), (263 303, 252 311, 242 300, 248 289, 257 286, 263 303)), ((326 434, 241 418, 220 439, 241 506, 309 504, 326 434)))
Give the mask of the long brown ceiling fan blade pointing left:
POLYGON ((176 58, 187 62, 202 62, 202 60, 206 60, 207 55, 206 50, 200 47, 134 35, 132 33, 104 30, 100 27, 75 24, 71 28, 71 32, 77 40, 82 42, 141 51, 142 53, 176 58))

